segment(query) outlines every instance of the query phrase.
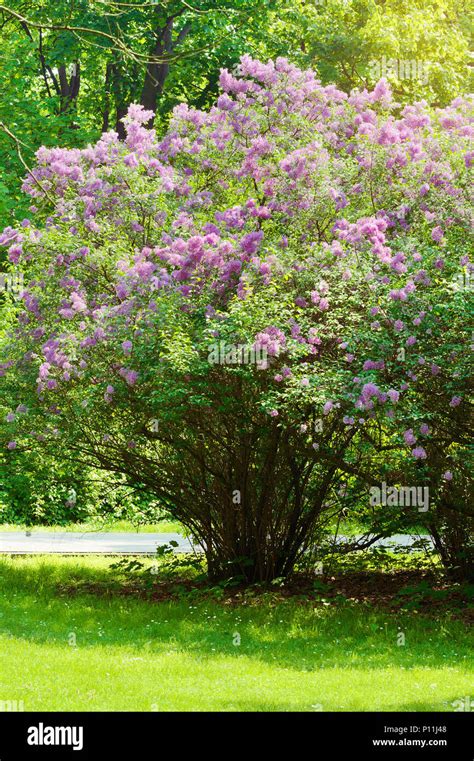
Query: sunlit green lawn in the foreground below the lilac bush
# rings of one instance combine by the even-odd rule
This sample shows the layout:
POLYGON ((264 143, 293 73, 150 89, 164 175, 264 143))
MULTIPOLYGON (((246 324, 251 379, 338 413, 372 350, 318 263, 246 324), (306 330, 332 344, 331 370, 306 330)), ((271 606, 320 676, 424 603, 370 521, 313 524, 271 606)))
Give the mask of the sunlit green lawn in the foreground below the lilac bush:
POLYGON ((156 602, 119 594, 109 566, 0 560, 0 700, 27 711, 451 711, 472 699, 472 641, 449 614, 272 596, 156 602))

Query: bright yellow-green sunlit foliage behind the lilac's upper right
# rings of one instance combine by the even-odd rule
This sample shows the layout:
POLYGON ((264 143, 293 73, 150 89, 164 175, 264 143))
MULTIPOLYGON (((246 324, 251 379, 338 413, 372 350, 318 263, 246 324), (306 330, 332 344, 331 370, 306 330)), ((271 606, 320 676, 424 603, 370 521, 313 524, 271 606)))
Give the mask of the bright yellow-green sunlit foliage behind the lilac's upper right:
POLYGON ((402 103, 446 105, 472 90, 470 27, 464 0, 298 0, 280 4, 271 39, 345 91, 387 76, 402 103))

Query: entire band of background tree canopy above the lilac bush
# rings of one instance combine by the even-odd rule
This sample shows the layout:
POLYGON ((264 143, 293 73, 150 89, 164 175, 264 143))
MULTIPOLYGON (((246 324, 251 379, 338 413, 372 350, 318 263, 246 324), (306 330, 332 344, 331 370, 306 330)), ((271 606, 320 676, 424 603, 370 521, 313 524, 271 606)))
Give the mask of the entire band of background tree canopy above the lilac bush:
POLYGON ((18 177, 42 144, 124 136, 130 103, 208 107, 243 53, 289 56, 348 92, 381 76, 401 102, 469 88, 467 0, 9 0, 0 4, 0 220, 25 211, 18 177), (13 136, 12 136, 13 135, 13 136), (15 138, 17 140, 15 140, 15 138))

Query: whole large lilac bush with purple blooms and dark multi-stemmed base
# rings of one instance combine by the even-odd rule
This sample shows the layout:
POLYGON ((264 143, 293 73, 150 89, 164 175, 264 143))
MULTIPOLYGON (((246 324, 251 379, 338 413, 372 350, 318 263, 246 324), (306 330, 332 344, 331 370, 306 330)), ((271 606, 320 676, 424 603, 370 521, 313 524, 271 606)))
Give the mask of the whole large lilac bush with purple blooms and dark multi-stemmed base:
POLYGON ((288 574, 387 476, 465 537, 472 100, 401 109, 248 56, 220 84, 161 139, 132 106, 124 142, 38 151, 0 237, 26 282, 7 457, 126 474, 215 578, 288 574))

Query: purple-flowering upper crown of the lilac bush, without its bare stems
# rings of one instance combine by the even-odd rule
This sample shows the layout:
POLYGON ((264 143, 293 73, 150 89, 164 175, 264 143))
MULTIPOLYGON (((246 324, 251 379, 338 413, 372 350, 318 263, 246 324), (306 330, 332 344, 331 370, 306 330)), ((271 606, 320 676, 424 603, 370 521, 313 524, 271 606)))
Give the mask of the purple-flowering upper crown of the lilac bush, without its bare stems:
POLYGON ((176 107, 161 139, 134 105, 124 142, 110 131, 84 150, 37 152, 23 185, 32 220, 0 234, 30 273, 22 354, 0 376, 27 362, 45 405, 81 383, 119 404, 145 383, 147 340, 172 333, 164 302, 191 343, 202 314, 199 330, 216 336, 247 306, 247 338, 269 357, 270 416, 292 393, 313 399, 326 373, 325 416, 353 427, 383 415, 425 459, 398 410, 425 377, 441 382, 431 294, 471 267, 445 254, 472 221, 471 101, 400 112, 385 80, 347 95, 283 58, 244 56, 220 85, 209 112, 176 107), (397 359, 402 344, 416 373, 397 359))

